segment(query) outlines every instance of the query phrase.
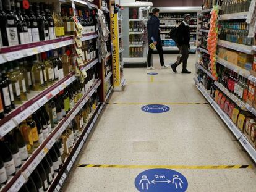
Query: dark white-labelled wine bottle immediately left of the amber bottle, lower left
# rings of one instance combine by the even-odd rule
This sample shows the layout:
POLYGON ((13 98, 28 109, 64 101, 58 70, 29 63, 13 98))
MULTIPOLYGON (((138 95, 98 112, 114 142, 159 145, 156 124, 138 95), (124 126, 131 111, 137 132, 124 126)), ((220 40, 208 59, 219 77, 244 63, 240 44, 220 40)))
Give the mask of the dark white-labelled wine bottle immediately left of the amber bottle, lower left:
POLYGON ((25 143, 25 140, 20 133, 19 127, 15 127, 14 129, 14 140, 17 142, 17 145, 19 147, 20 152, 20 158, 22 161, 25 161, 28 159, 28 151, 27 151, 27 145, 25 143))

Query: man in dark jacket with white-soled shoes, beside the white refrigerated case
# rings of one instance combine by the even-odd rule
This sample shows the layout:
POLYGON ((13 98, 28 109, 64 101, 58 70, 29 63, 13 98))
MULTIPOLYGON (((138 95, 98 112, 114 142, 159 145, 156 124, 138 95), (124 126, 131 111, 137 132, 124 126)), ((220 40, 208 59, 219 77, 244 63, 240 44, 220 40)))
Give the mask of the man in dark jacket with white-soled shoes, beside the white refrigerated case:
MULTIPOLYGON (((159 9, 158 8, 154 8, 152 10, 152 17, 148 20, 147 25, 148 25, 148 44, 154 43, 156 46, 156 49, 158 51, 159 54, 159 59, 160 59, 160 63, 161 63, 161 69, 167 69, 167 66, 164 65, 164 57, 163 57, 163 46, 162 46, 162 42, 161 42, 161 38, 160 38, 160 20, 158 19, 158 15, 159 15, 159 9), (152 40, 153 37, 153 40, 152 40)), ((147 59, 147 64, 148 64, 148 70, 150 69, 155 69, 153 67, 153 64, 151 64, 151 57, 153 54, 153 49, 151 49, 150 47, 148 47, 148 59, 147 59)))

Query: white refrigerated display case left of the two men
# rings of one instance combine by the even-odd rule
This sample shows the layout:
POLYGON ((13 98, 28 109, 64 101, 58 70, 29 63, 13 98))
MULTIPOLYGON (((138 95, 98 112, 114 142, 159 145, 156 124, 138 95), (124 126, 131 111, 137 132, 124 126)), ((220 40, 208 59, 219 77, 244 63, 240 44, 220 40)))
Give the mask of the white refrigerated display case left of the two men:
POLYGON ((147 20, 152 2, 122 3, 123 61, 125 67, 147 63, 147 20), (135 64, 132 65, 132 64, 135 64))

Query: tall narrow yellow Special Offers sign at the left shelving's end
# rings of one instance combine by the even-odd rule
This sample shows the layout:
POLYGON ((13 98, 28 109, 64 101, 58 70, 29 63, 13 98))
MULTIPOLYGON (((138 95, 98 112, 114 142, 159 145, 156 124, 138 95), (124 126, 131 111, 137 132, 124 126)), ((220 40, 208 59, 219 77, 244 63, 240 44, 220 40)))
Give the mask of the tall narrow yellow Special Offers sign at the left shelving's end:
POLYGON ((113 82, 114 86, 120 86, 120 67, 119 67, 119 37, 118 37, 118 14, 111 13, 111 38, 113 42, 113 82))

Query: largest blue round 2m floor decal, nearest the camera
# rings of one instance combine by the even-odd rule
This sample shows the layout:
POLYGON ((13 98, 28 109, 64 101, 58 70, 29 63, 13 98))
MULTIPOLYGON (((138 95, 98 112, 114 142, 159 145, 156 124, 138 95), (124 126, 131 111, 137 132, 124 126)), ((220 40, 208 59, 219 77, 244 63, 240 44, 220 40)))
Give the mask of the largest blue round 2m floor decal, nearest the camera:
POLYGON ((135 178, 135 186, 140 192, 184 192, 187 190, 186 177, 171 169, 149 169, 135 178))

